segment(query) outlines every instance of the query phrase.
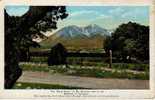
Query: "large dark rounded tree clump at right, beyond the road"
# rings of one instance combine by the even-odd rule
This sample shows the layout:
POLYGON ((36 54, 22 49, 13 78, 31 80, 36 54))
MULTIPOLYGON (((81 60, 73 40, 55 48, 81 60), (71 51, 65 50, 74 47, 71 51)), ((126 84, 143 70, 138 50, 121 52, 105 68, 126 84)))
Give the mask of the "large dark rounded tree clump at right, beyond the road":
POLYGON ((120 25, 105 41, 105 49, 123 62, 149 61, 149 27, 133 22, 120 25))

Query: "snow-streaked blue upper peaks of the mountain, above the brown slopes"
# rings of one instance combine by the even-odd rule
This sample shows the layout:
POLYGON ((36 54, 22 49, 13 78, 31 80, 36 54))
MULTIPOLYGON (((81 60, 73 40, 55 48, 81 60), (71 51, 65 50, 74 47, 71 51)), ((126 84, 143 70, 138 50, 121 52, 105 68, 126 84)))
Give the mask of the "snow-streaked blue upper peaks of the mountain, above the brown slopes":
POLYGON ((110 33, 106 29, 96 24, 88 25, 86 27, 78 27, 75 25, 67 26, 60 29, 55 34, 66 38, 76 36, 91 37, 97 34, 101 36, 110 35, 110 33))

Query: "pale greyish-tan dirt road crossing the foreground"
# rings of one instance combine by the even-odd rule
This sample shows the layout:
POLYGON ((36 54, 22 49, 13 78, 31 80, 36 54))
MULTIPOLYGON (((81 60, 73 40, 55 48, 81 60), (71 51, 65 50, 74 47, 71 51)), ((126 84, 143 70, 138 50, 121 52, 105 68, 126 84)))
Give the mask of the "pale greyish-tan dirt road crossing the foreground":
POLYGON ((106 79, 25 71, 18 82, 59 84, 92 89, 149 89, 149 80, 106 79))

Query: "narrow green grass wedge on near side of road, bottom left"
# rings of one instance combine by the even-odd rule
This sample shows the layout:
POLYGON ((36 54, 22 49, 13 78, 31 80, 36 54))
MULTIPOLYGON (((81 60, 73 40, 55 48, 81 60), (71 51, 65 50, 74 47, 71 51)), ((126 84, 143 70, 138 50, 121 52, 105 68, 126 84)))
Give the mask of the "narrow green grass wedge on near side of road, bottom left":
POLYGON ((83 89, 81 87, 64 86, 58 84, 42 84, 42 83, 15 83, 13 89, 83 89))

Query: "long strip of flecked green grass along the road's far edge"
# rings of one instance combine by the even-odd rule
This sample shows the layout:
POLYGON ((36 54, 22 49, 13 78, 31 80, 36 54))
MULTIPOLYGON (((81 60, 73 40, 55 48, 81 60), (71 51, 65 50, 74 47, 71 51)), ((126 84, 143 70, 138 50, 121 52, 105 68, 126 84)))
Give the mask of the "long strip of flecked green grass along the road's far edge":
POLYGON ((127 72, 126 69, 120 69, 113 67, 112 71, 101 70, 100 67, 87 68, 84 66, 72 66, 66 68, 64 65, 58 66, 47 66, 47 65, 33 65, 33 64, 22 64, 20 65, 23 70, 26 71, 43 71, 53 73, 63 73, 67 75, 75 76, 86 76, 86 77, 97 77, 97 78, 128 78, 128 79, 149 79, 149 71, 144 73, 133 73, 127 72))

